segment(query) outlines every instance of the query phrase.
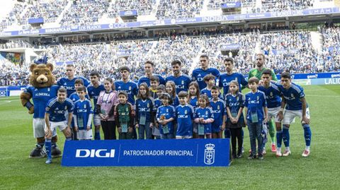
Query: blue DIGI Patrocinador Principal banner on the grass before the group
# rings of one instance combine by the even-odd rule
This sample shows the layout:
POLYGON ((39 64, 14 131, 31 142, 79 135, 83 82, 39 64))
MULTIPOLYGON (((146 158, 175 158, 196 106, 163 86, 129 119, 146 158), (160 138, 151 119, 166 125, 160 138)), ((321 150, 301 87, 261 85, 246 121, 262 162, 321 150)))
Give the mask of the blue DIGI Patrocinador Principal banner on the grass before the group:
POLYGON ((229 138, 65 141, 62 166, 229 166, 229 138))

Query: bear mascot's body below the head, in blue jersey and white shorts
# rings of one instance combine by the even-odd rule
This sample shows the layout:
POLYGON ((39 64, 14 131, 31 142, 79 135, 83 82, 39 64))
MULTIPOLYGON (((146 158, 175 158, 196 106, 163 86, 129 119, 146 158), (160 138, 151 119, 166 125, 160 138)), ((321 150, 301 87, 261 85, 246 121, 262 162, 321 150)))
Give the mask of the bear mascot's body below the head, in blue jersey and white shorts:
MULTIPOLYGON (((57 96, 57 90, 60 87, 57 85, 52 85, 45 88, 35 88, 33 86, 28 86, 23 93, 28 94, 32 97, 33 104, 27 102, 25 107, 28 110, 33 107, 33 136, 37 139, 37 144, 35 149, 30 152, 30 158, 43 158, 46 155, 43 146, 45 145, 45 108, 48 100, 57 96)), ((57 133, 54 131, 52 136, 52 156, 53 158, 60 157, 62 152, 57 148, 57 133)))

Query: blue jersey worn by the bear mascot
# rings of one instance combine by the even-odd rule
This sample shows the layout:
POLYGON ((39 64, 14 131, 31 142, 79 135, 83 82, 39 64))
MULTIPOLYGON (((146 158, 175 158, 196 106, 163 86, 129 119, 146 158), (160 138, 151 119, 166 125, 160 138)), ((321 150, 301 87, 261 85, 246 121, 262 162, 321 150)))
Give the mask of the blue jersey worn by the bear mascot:
POLYGON ((47 102, 57 96, 58 89, 59 86, 57 85, 46 88, 35 88, 33 86, 25 88, 24 92, 29 93, 32 96, 34 105, 33 118, 43 119, 45 117, 47 102))

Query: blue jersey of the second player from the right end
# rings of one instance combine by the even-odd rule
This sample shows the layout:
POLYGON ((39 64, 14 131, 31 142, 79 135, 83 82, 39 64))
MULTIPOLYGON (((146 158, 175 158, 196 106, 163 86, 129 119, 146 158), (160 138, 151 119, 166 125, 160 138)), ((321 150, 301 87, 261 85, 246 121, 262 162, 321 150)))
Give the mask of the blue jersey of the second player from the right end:
POLYGON ((276 85, 276 83, 269 83, 268 88, 261 85, 258 89, 266 95, 268 108, 281 106, 280 90, 278 90, 278 85, 276 85))

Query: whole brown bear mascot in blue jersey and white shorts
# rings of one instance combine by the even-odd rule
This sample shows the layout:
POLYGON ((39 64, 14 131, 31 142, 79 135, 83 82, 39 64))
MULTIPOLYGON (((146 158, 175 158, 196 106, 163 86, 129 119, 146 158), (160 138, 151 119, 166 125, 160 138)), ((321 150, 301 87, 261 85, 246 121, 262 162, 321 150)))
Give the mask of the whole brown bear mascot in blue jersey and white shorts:
MULTIPOLYGON (((57 96, 59 86, 55 84, 55 76, 52 75, 52 64, 30 65, 30 86, 20 95, 21 103, 27 107, 28 113, 33 114, 33 135, 37 139, 35 148, 30 152, 30 158, 44 158, 45 143, 45 108, 48 100, 57 96), (30 99, 33 99, 33 104, 30 99)), ((62 152, 57 148, 57 132, 53 131, 52 158, 60 157, 62 152)))

